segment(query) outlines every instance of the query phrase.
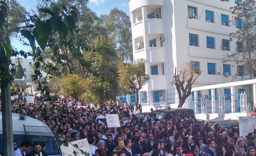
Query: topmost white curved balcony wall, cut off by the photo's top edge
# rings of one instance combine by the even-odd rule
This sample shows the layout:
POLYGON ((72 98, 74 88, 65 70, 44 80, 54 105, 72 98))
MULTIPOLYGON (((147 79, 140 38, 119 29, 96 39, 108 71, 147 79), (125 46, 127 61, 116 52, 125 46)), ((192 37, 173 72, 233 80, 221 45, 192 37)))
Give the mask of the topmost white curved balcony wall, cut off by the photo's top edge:
POLYGON ((144 7, 146 5, 165 5, 165 0, 128 0, 129 12, 131 13, 137 8, 144 7))

